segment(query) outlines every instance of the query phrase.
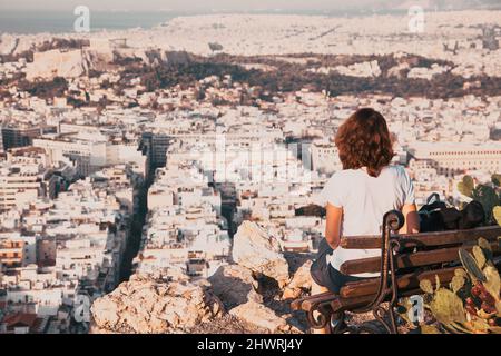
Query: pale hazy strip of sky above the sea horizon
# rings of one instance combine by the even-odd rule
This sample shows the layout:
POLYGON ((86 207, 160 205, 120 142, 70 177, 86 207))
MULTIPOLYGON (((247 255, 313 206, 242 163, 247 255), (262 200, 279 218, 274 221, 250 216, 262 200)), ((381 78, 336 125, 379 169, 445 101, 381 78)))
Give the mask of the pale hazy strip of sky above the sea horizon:
POLYGON ((0 10, 61 10, 85 4, 91 10, 324 10, 391 3, 395 0, 0 0, 0 10))

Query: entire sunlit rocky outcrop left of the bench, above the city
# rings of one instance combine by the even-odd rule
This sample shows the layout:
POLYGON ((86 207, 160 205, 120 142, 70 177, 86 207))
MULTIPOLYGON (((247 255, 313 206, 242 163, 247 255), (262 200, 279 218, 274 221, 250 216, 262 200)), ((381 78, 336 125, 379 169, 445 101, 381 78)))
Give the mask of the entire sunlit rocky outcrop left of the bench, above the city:
POLYGON ((160 270, 134 275, 94 303, 92 333, 306 330, 289 298, 311 288, 311 256, 284 255, 276 238, 246 221, 235 236, 233 259, 197 283, 178 268, 167 271, 168 281, 160 270))

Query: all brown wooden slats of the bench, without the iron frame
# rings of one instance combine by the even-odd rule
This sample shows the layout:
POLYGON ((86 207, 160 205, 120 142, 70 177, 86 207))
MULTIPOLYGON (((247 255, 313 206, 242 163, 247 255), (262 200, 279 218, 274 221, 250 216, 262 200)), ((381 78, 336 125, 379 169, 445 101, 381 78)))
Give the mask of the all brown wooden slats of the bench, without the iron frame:
MULTIPOLYGON (((425 250, 410 253, 401 250, 395 258, 395 270, 397 274, 396 284, 399 296, 421 295, 420 281, 428 279, 435 286, 435 276, 439 276, 442 285, 449 284, 454 271, 461 268, 459 249, 473 248, 480 237, 488 239, 494 253, 494 264, 501 265, 501 245, 498 238, 501 237, 501 227, 483 227, 470 230, 439 231, 414 235, 399 235, 399 241, 403 248, 426 247, 425 250), (458 266, 443 266, 442 264, 458 263, 458 266), (423 268, 424 266, 428 266, 423 268), (423 270, 424 269, 424 270, 423 270)), ((345 237, 341 246, 344 248, 379 249, 382 238, 380 236, 365 237, 345 237)), ((345 261, 340 270, 347 275, 363 273, 379 273, 381 257, 364 258, 345 261)), ((293 310, 310 312, 318 306, 322 313, 336 312, 362 312, 373 300, 379 290, 380 278, 367 278, 360 281, 346 284, 338 295, 333 293, 323 293, 316 296, 310 296, 296 299, 291 304, 293 310)), ((385 297, 387 301, 389 296, 385 297)))

